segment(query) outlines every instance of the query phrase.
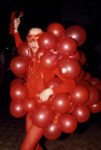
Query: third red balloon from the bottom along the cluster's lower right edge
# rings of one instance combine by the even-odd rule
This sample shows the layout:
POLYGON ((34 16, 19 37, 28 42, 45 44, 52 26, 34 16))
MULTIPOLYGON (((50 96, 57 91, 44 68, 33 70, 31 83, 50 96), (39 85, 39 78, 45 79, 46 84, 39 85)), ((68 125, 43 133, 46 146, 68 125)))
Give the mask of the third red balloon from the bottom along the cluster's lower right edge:
POLYGON ((90 117, 90 109, 85 105, 78 105, 73 112, 73 116, 78 122, 84 123, 90 117))

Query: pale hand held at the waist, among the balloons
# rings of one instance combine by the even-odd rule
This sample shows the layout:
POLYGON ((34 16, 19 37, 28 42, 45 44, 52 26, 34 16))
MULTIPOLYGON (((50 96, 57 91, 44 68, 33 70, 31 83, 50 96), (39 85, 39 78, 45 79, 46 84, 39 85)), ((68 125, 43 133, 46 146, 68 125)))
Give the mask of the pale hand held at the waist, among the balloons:
POLYGON ((50 95, 53 95, 53 90, 51 88, 47 88, 40 93, 39 97, 42 100, 42 102, 44 102, 49 99, 50 95))

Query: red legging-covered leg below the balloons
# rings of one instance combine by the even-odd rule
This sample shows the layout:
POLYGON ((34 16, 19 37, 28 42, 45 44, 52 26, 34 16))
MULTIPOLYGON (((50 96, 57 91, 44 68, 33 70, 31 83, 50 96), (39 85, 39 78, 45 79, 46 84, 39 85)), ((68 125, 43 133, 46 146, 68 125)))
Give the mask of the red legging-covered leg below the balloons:
POLYGON ((38 143, 43 135, 43 129, 32 124, 30 113, 26 116, 26 131, 26 137, 21 146, 21 150, 43 150, 38 143))

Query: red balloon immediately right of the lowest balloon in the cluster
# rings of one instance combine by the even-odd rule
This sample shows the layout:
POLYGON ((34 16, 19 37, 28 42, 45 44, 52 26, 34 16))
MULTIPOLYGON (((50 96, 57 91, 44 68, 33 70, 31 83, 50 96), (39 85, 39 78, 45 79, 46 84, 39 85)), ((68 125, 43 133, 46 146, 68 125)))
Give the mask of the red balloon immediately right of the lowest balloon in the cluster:
POLYGON ((58 120, 60 129, 65 133, 72 133, 77 128, 77 120, 74 116, 69 114, 64 114, 59 117, 58 120))

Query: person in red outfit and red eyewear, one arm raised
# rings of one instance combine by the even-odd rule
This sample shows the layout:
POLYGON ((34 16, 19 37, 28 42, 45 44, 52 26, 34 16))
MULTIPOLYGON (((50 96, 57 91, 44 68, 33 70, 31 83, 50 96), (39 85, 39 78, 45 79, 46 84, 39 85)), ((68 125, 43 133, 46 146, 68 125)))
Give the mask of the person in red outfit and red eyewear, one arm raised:
MULTIPOLYGON (((23 42, 18 33, 19 25, 20 18, 14 19, 14 37, 17 48, 23 42)), ((70 92, 75 87, 74 80, 63 78, 57 68, 47 71, 40 65, 40 51, 38 51, 39 46, 37 40, 42 32, 40 28, 32 28, 27 35, 29 54, 32 53, 32 56, 27 71, 26 86, 29 97, 36 98, 38 103, 47 101, 53 94, 70 92), (62 83, 57 87, 46 88, 46 83, 55 76, 61 79, 62 83)), ((29 113, 26 116, 26 130, 27 133, 21 150, 33 150, 34 148, 41 150, 41 146, 39 144, 37 145, 37 143, 43 135, 43 129, 32 124, 29 113)))

